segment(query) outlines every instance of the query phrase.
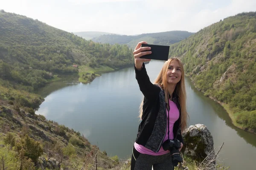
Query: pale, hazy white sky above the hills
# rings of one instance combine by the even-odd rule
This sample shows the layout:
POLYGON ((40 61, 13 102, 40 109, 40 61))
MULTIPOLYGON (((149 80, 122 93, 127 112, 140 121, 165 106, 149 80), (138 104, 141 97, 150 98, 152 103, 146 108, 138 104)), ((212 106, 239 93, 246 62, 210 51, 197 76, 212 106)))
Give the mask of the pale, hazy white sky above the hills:
POLYGON ((135 35, 197 32, 226 17, 256 11, 256 0, 0 0, 0 9, 68 32, 135 35))

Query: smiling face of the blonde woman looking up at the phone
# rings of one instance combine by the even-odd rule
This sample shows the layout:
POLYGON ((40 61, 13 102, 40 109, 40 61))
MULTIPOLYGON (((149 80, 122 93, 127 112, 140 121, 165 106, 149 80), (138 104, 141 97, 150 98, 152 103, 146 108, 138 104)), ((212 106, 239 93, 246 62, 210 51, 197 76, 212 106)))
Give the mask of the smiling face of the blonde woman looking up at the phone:
POLYGON ((177 84, 181 79, 181 68, 179 62, 172 60, 167 70, 168 84, 177 84))

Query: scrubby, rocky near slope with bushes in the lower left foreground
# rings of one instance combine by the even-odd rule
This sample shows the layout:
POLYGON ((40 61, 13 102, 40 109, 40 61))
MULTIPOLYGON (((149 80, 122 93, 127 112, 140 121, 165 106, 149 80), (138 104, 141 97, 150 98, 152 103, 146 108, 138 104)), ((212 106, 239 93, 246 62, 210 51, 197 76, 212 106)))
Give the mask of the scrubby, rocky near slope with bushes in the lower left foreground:
POLYGON ((95 169, 97 163, 107 170, 120 165, 117 157, 106 156, 79 132, 42 115, 31 116, 23 108, 18 112, 6 101, 0 103, 1 169, 95 169))

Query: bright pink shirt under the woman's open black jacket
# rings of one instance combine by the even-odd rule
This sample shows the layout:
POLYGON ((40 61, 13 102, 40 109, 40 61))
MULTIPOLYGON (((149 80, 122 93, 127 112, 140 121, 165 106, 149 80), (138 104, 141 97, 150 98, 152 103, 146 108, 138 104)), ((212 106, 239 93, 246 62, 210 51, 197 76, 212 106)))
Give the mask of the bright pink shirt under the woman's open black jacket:
MULTIPOLYGON (((169 111, 170 132, 169 132, 169 136, 170 136, 170 139, 173 139, 174 138, 174 136, 173 136, 173 125, 179 119, 180 112, 179 112, 179 109, 177 108, 177 105, 174 102, 172 102, 171 100, 169 100, 169 105, 170 105, 170 111, 169 111)), ((166 114, 168 114, 167 109, 166 109, 166 114)), ((166 128, 167 128, 166 129, 166 136, 163 139, 163 142, 165 142, 168 139, 168 126, 166 128)), ((134 143, 134 148, 142 154, 148 154, 148 155, 154 155, 154 156, 164 155, 166 153, 169 153, 169 150, 166 150, 166 151, 163 150, 162 146, 160 147, 160 150, 157 153, 155 153, 152 150, 150 150, 150 149, 148 149, 148 148, 146 148, 146 147, 144 147, 140 144, 137 144, 136 142, 134 143)))

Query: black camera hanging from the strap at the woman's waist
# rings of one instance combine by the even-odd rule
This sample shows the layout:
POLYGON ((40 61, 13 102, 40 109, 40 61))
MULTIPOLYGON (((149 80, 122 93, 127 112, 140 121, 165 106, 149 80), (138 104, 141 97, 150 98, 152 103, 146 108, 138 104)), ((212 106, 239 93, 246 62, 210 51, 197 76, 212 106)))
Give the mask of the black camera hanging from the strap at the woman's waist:
POLYGON ((180 146, 180 141, 178 139, 168 139, 165 142, 163 142, 163 150, 169 150, 172 156, 172 164, 173 166, 177 166, 178 162, 182 162, 183 159, 180 156, 179 148, 180 146))

